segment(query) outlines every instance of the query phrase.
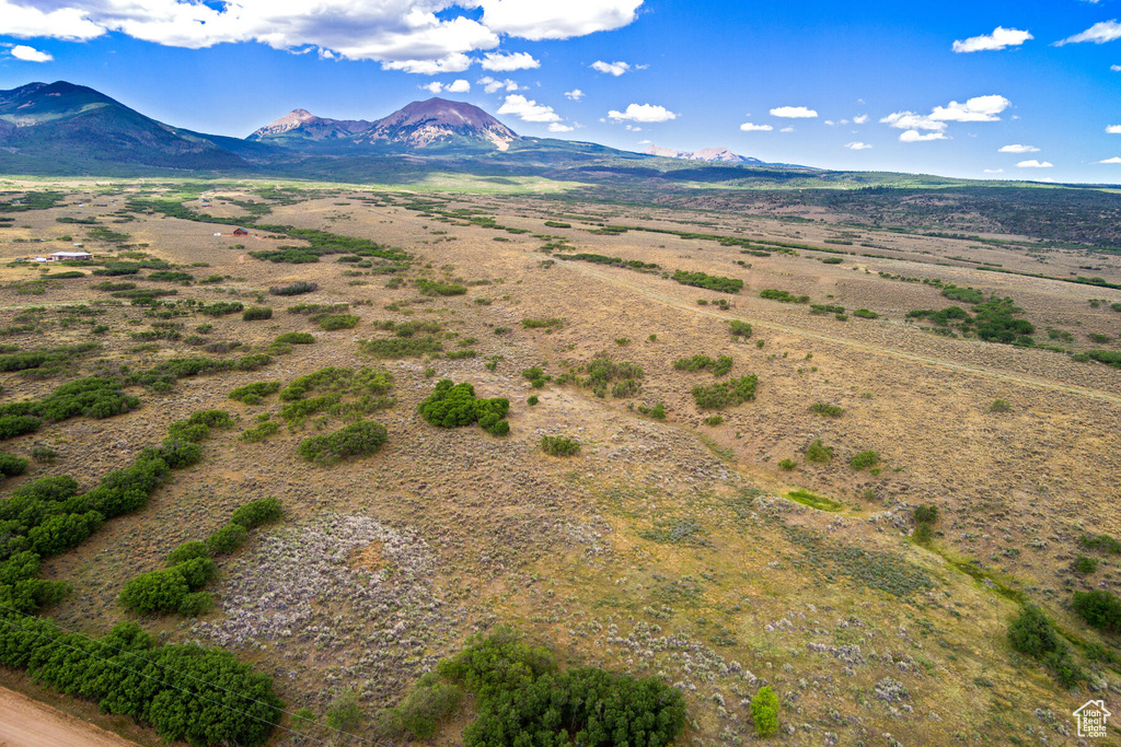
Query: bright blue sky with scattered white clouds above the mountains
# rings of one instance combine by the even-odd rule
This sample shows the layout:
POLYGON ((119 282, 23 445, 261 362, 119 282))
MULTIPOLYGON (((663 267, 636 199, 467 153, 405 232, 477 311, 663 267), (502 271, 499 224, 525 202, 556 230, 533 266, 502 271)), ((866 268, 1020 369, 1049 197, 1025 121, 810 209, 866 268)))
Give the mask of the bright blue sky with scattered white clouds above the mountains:
POLYGON ((932 8, 0 0, 0 88, 66 80, 235 137, 296 108, 377 119, 438 90, 521 134, 628 150, 1121 183, 1121 0, 932 8))

